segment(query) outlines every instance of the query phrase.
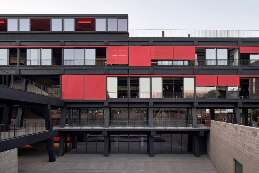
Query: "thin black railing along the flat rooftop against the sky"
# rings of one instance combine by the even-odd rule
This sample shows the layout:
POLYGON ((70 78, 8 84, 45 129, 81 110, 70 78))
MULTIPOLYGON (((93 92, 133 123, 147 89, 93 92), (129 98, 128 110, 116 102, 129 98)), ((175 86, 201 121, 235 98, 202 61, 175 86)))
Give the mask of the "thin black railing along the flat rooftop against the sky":
POLYGON ((259 30, 129 30, 130 37, 259 37, 259 30))

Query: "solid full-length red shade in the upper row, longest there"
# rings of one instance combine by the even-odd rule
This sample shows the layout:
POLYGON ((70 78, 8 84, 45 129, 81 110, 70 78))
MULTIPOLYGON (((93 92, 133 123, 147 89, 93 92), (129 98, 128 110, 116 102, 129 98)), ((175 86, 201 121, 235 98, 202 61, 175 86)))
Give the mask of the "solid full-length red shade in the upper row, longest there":
POLYGON ((130 46, 130 67, 151 66, 150 46, 130 46))

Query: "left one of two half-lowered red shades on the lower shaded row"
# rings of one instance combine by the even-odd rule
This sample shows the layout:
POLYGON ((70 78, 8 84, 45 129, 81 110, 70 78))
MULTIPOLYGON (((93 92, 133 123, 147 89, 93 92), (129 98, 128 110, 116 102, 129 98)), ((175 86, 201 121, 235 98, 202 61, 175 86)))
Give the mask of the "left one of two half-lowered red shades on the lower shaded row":
POLYGON ((196 86, 217 86, 217 75, 196 75, 196 86))

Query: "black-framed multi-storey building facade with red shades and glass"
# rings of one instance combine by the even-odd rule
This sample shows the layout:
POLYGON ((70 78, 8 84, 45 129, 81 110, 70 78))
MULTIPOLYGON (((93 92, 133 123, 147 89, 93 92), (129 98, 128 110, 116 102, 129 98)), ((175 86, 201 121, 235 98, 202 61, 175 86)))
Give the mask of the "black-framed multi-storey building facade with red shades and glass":
MULTIPOLYGON (((2 98, 2 123, 12 116, 23 122, 24 109, 33 111, 55 131, 38 140, 59 142, 59 156, 199 156, 207 153, 215 109, 233 110, 218 121, 248 125, 248 108, 258 107, 258 34, 129 31, 127 14, 1 15, 0 69, 30 81, 2 75, 2 85, 26 91, 23 100, 2 98), (58 101, 31 101, 27 95, 35 90, 58 101), (17 116, 7 108, 17 108, 17 116), (51 109, 61 116, 46 118, 51 109)), ((49 154, 54 161, 53 150, 49 154)))

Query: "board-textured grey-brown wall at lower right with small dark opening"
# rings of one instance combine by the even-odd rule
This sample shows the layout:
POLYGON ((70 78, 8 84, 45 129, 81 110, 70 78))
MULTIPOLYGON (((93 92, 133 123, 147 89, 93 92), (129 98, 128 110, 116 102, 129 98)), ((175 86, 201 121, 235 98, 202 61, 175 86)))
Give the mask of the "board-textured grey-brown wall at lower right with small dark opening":
POLYGON ((259 128, 211 121, 207 142, 207 153, 219 173, 233 173, 233 159, 243 165, 243 173, 258 172, 259 128))

